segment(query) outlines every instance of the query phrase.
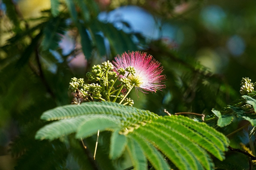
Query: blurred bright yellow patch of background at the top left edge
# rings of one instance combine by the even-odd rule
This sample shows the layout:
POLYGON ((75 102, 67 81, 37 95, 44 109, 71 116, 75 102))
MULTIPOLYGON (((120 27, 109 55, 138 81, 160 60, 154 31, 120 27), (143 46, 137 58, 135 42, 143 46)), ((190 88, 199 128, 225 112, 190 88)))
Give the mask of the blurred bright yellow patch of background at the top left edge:
POLYGON ((42 10, 51 8, 50 0, 19 0, 18 6, 24 19, 42 16, 42 10))

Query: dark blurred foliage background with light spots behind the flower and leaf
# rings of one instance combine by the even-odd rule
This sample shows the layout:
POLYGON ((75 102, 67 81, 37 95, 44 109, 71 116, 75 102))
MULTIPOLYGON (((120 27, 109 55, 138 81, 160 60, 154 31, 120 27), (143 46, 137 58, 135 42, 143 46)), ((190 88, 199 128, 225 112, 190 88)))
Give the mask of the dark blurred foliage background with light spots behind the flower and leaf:
MULTIPOLYGON (((71 2, 0 0, 0 170, 78 170, 86 164, 95 169, 90 147, 86 157, 79 141, 66 146, 36 141, 34 134, 44 125, 42 112, 71 103, 72 77, 86 78, 94 64, 124 51, 145 51, 162 63, 166 89, 130 95, 134 107, 159 115, 166 115, 164 109, 211 115, 212 108, 240 98, 242 77, 256 81, 256 1, 71 2), (51 3, 58 10, 50 10, 51 3)), ((237 120, 219 130, 229 134, 243 125, 237 120)), ((231 136, 232 144, 250 144, 248 131, 231 136)), ((88 146, 94 140, 86 140, 88 146)), ((125 156, 114 163, 104 160, 104 135, 100 140, 97 167, 124 169, 125 156)), ((249 167, 239 153, 227 153, 226 162, 215 164, 230 162, 249 167)))

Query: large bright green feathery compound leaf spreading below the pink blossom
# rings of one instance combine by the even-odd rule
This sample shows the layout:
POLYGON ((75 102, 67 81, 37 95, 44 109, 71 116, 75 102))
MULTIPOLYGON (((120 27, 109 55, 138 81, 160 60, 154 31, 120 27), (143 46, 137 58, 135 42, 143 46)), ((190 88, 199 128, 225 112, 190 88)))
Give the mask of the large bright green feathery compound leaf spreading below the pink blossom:
POLYGON ((38 130, 37 139, 53 140, 71 133, 86 138, 98 130, 112 131, 110 158, 120 157, 127 146, 138 170, 147 167, 146 158, 157 170, 169 168, 157 149, 180 170, 212 170, 214 165, 206 150, 223 160, 229 144, 223 134, 205 123, 183 116, 161 117, 112 102, 56 107, 44 112, 41 119, 57 121, 38 130))

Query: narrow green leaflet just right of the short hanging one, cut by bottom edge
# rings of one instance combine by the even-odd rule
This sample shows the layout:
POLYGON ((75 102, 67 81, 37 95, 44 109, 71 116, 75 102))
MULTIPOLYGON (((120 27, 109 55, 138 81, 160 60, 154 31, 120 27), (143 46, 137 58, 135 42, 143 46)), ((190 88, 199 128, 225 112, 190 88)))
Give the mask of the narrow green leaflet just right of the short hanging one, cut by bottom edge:
POLYGON ((134 165, 134 170, 147 170, 148 164, 146 157, 144 156, 138 143, 129 138, 128 140, 128 152, 134 165))

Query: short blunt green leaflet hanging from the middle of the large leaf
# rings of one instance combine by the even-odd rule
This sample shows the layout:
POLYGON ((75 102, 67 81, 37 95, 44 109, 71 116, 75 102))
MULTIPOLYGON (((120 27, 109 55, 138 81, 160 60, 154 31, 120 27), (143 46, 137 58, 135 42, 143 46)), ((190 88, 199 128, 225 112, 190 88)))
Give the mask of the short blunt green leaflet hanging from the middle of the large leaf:
POLYGON ((119 158, 124 152, 126 144, 127 144, 126 136, 119 134, 119 130, 114 131, 110 138, 109 157, 112 159, 119 158))

